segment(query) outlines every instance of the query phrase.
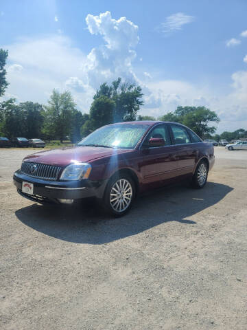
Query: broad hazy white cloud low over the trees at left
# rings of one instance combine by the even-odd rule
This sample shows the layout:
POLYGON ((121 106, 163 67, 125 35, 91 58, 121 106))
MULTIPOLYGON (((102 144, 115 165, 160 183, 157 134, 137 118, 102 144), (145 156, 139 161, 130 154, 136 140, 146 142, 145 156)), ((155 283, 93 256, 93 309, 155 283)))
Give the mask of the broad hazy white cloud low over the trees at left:
POLYGON ((44 104, 52 89, 64 91, 70 87, 78 107, 82 111, 88 111, 93 97, 92 89, 85 88, 79 93, 76 88, 72 88, 72 83, 75 87, 75 81, 71 80, 71 77, 78 77, 86 86, 86 77, 80 71, 82 63, 86 62, 86 56, 73 47, 69 38, 56 35, 40 39, 20 39, 4 48, 9 50, 9 94, 18 96, 20 102, 31 100, 44 104), (20 74, 21 67, 25 69, 20 74), (68 83, 72 85, 69 86, 68 83))

